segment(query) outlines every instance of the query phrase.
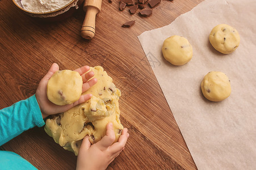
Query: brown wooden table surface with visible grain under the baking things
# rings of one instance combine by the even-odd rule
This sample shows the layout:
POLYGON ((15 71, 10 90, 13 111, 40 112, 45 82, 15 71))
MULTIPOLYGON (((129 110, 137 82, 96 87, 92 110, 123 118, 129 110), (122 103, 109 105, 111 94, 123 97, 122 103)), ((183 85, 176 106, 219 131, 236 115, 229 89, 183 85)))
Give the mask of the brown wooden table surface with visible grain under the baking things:
MULTIPOLYGON (((61 22, 44 23, 24 14, 11 0, 1 0, 0 109, 35 94, 53 62, 61 70, 101 65, 121 90, 120 120, 130 134, 125 150, 108 169, 196 169, 137 36, 170 24, 202 1, 162 0, 151 16, 142 18, 138 11, 119 11, 118 0, 104 0, 96 17, 96 35, 89 41, 79 35, 82 8, 61 22), (136 24, 122 28, 129 20, 136 24)), ((75 169, 76 156, 55 143, 44 128, 30 129, 1 148, 38 169, 75 169)))

